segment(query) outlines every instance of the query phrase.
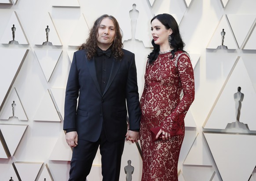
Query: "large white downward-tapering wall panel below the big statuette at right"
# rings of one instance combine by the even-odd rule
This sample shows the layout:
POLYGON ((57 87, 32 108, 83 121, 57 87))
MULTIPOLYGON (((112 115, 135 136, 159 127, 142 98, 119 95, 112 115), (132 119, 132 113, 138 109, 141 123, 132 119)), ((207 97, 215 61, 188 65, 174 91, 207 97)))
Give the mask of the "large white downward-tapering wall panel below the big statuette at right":
POLYGON ((223 181, 247 181, 256 163, 255 135, 205 133, 223 181))

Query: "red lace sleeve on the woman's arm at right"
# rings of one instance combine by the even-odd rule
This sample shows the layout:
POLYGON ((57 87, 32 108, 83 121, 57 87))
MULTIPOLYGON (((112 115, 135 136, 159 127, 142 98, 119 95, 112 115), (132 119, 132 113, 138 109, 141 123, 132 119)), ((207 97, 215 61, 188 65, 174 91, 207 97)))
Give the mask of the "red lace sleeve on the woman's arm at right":
POLYGON ((190 105, 194 101, 194 71, 187 54, 181 54, 177 58, 177 69, 179 73, 180 85, 183 90, 183 98, 178 102, 170 116, 167 116, 162 122, 162 130, 174 133, 177 130, 180 121, 184 119, 190 105))

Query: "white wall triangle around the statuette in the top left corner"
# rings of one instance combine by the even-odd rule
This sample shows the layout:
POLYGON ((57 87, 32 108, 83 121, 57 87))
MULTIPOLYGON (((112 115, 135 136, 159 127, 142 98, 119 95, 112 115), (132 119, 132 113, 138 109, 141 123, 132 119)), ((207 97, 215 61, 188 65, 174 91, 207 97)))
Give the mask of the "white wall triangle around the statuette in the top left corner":
POLYGON ((0 43, 8 44, 10 41, 13 40, 13 35, 12 35, 13 25, 15 25, 15 28, 16 28, 14 40, 18 41, 19 44, 29 44, 26 34, 24 33, 22 25, 18 19, 18 15, 16 11, 12 13, 9 22, 7 23, 7 25, 5 25, 6 29, 3 33, 0 43))

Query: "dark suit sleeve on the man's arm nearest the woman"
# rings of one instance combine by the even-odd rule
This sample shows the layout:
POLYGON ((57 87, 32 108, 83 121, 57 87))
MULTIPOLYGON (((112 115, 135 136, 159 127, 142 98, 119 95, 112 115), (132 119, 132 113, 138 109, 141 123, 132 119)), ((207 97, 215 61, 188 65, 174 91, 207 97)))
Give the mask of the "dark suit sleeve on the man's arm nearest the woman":
POLYGON ((141 110, 139 107, 139 92, 134 54, 132 54, 132 58, 128 67, 126 101, 129 115, 129 129, 139 130, 141 110))

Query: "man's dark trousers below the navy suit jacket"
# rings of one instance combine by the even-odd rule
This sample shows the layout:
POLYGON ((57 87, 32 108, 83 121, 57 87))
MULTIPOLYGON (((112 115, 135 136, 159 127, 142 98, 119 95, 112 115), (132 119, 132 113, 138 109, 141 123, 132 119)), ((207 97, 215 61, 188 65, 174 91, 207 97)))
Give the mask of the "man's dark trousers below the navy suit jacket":
POLYGON ((102 181, 119 181, 124 139, 114 142, 107 141, 103 128, 100 138, 96 142, 80 140, 78 136, 78 145, 73 148, 69 181, 86 181, 98 148, 101 154, 102 181))

